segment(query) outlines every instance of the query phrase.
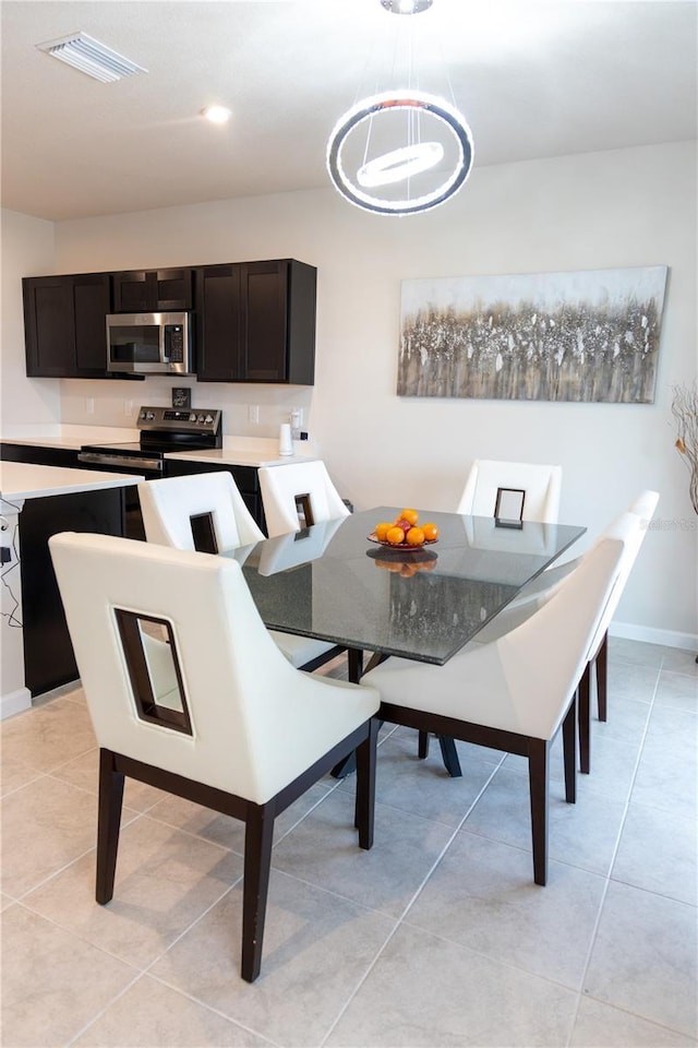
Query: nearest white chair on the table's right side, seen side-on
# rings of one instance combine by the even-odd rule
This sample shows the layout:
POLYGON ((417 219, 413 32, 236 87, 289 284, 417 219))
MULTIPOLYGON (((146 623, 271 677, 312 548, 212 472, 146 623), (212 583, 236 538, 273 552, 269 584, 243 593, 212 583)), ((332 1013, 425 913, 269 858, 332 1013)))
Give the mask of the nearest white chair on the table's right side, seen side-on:
POLYGON ((606 539, 528 621, 444 666, 388 658, 363 677, 381 719, 528 759, 533 876, 547 879, 550 747, 563 728, 565 796, 576 789, 576 693, 617 576, 624 543, 606 539))

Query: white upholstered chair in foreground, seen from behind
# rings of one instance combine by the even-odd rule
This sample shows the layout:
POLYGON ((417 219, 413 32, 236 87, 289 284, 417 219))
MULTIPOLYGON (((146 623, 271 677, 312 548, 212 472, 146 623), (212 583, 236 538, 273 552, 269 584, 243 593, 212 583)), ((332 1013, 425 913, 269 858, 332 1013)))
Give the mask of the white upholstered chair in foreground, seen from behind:
POLYGON ((113 895, 124 776, 243 820, 251 982, 274 820, 354 749, 359 844, 372 845, 378 694, 294 669, 234 560, 106 535, 49 547, 99 745, 97 902, 113 895))

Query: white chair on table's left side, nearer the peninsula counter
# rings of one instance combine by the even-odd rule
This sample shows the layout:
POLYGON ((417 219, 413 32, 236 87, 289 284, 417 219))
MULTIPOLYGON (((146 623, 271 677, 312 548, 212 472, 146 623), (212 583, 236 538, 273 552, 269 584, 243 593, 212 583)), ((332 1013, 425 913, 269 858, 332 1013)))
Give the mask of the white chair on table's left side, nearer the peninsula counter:
MULTIPOLYGON (((243 561, 250 544, 264 538, 227 471, 147 480, 139 485, 139 498, 148 543, 205 553, 239 549, 243 561)), ((298 669, 316 669, 344 651, 312 636, 270 633, 298 669)))

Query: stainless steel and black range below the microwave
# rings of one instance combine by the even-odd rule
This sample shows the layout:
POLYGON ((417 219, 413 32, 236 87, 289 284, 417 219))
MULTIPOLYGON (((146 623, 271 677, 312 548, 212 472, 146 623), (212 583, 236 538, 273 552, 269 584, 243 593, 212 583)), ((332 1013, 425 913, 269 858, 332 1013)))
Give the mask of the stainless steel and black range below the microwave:
MULTIPOLYGON (((218 408, 142 407, 139 442, 83 444, 77 461, 105 473, 141 474, 146 480, 163 476, 165 455, 173 451, 202 451, 222 446, 222 412, 218 408)), ((137 489, 127 495, 127 535, 145 538, 137 489)))

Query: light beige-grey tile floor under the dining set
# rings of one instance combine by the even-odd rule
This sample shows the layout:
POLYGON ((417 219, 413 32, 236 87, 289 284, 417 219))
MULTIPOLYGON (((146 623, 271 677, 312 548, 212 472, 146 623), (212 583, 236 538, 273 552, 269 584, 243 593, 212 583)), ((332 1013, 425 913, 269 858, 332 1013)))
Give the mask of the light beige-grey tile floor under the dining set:
POLYGON ((546 888, 521 759, 459 743, 449 779, 384 729, 371 851, 352 778, 278 820, 253 986, 240 825, 129 784, 100 907, 82 692, 4 722, 2 1045, 696 1046, 698 666, 612 639, 610 680, 574 807, 556 747, 546 888))

